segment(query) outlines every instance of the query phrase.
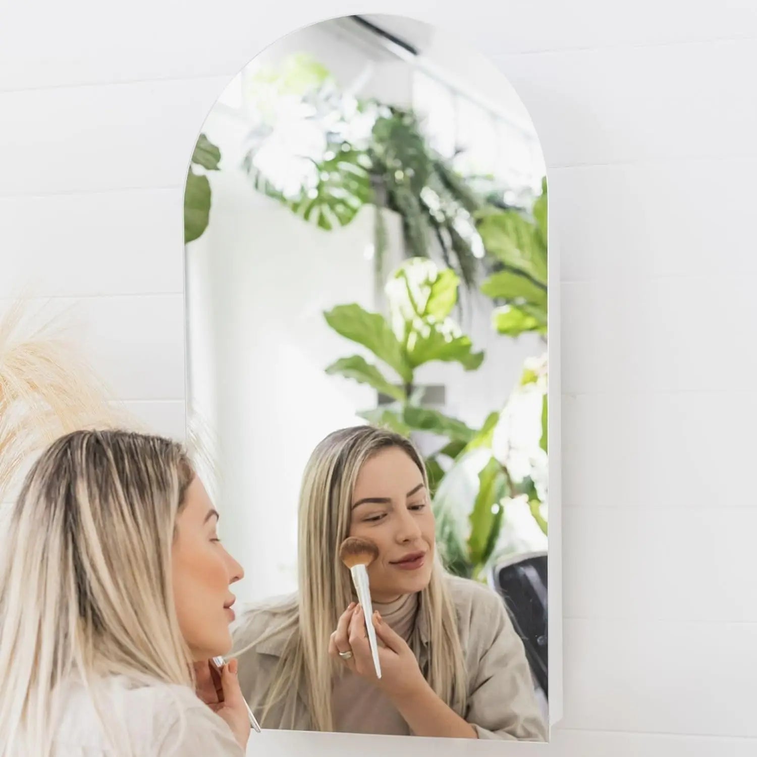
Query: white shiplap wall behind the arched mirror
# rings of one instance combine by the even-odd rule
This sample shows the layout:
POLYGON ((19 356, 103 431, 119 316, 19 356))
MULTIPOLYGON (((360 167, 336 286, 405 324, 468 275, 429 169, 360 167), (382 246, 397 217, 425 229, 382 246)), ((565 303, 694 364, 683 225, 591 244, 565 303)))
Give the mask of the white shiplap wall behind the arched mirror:
MULTIPOLYGON (((78 301, 120 398, 180 435, 197 132, 264 45, 366 11, 446 25, 501 65, 540 132, 562 251, 565 718, 548 746, 413 754, 753 755, 754 0, 7 5, 0 298, 34 276, 78 301)), ((295 749, 410 745, 271 733, 250 754, 295 749)))

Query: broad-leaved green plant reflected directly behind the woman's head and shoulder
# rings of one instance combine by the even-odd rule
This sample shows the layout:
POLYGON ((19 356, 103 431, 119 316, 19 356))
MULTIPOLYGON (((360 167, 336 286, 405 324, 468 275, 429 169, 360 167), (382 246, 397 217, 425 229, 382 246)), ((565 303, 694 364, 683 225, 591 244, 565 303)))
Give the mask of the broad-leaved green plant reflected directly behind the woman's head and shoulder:
POLYGON ((416 431, 431 431, 444 438, 444 444, 425 460, 438 544, 451 572, 481 579, 500 553, 509 499, 526 498, 534 519, 546 533, 537 484, 532 478, 512 475, 506 448, 500 450, 495 444, 495 434, 509 422, 519 394, 534 391, 544 383, 544 375, 539 364, 532 364, 506 407, 490 413, 478 429, 422 406, 415 378, 419 366, 448 360, 475 370, 484 357, 473 351, 469 337, 450 319, 458 287, 459 279, 452 270, 414 258, 388 280, 388 319, 357 304, 329 310, 325 313, 329 326, 369 350, 375 362, 356 354, 335 361, 326 372, 370 385, 391 397, 390 404, 360 413, 369 422, 407 437, 416 431), (477 481, 475 491, 460 497, 459 487, 471 478, 471 471, 477 481))

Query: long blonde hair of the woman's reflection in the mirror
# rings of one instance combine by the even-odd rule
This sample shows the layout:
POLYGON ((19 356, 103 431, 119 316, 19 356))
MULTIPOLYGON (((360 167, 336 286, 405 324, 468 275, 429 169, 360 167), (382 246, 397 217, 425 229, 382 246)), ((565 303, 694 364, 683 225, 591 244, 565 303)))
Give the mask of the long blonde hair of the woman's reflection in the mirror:
MULTIPOLYGON (((310 456, 298 516, 298 595, 283 608, 282 624, 250 645, 285 629, 291 631, 266 696, 264 722, 276 703, 287 699, 291 702, 304 690, 313 728, 334 730, 332 678, 340 668, 327 650, 338 617, 352 600, 350 576, 341 565, 338 547, 349 534, 351 498, 360 469, 366 460, 388 447, 399 447, 407 453, 428 487, 425 465, 416 447, 403 436, 382 428, 363 425, 335 431, 310 456)), ((437 558, 431 581, 420 593, 419 612, 425 613, 430 652, 424 672, 435 693, 463 715, 466 670, 456 612, 444 575, 437 558)), ((417 649, 417 628, 413 634, 411 646, 417 649)), ((289 712, 294 717, 294 707, 289 712)), ((287 726, 294 727, 294 722, 278 724, 287 726)))

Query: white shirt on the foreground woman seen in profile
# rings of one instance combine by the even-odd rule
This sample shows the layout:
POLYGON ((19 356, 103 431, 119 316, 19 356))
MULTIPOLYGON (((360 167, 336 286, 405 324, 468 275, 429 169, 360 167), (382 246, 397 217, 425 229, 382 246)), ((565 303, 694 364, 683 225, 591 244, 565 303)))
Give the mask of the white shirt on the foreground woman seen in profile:
MULTIPOLYGON (((82 684, 70 684, 62 702, 53 757, 119 757, 82 684)), ((98 706, 107 718, 108 731, 119 746, 128 744, 134 757, 244 755, 226 722, 188 687, 160 683, 133 687, 114 677, 98 697, 98 706)), ((129 755, 128 748, 123 753, 129 755)))

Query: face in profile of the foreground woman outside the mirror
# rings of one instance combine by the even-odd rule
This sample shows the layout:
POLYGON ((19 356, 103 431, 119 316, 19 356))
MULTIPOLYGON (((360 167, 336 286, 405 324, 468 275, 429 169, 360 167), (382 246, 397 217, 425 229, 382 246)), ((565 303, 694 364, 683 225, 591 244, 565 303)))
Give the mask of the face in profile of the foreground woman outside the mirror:
POLYGON ((221 546, 218 513, 197 476, 185 494, 173 542, 173 597, 176 613, 193 658, 200 662, 232 647, 229 623, 235 597, 229 585, 245 575, 221 546))

